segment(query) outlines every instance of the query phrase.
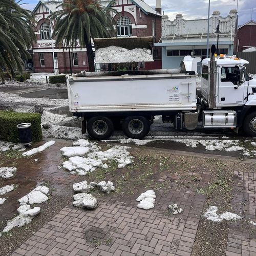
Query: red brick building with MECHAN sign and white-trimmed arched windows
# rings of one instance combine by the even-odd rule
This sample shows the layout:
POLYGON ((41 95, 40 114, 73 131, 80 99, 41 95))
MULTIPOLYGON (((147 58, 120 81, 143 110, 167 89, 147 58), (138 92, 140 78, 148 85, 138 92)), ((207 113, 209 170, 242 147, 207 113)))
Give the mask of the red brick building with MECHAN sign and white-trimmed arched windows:
MULTIPOLYGON (((157 0, 161 12, 161 0, 157 0)), ((141 0, 116 0, 114 6, 119 12, 117 36, 154 36, 154 42, 161 38, 161 14, 141 0)), ((56 11, 56 5, 39 1, 33 13, 37 24, 35 34, 37 41, 33 45, 33 67, 35 72, 73 73, 89 70, 86 48, 80 48, 79 42, 73 52, 67 47, 56 47, 52 38, 54 23, 48 16, 56 11)), ((161 68, 161 48, 153 47, 154 62, 145 63, 145 69, 161 68)))

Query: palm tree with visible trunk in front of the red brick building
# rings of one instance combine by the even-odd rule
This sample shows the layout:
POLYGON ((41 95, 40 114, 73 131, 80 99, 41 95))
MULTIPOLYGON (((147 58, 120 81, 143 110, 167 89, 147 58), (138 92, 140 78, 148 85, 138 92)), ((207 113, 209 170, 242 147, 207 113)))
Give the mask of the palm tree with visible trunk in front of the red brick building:
POLYGON ((81 48, 85 45, 89 62, 89 70, 95 71, 92 40, 94 38, 116 36, 114 29, 115 10, 108 7, 112 1, 100 0, 60 0, 49 1, 57 4, 56 9, 49 18, 55 18, 53 36, 56 45, 71 46, 76 48, 79 41, 81 48))

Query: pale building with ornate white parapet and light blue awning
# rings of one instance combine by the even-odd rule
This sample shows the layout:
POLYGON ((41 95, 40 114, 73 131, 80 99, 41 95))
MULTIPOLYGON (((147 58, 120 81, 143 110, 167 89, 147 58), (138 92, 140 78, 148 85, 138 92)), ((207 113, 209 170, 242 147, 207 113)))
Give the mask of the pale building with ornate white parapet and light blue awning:
MULTIPOLYGON (((227 17, 222 17, 219 11, 214 11, 209 20, 209 48, 217 45, 217 27, 219 25, 219 54, 233 55, 234 37, 237 33, 237 10, 230 10, 227 17)), ((207 56, 208 19, 186 20, 182 14, 169 20, 162 17, 162 42, 155 44, 162 47, 163 69, 178 68, 184 56, 207 56)), ((198 64, 200 70, 200 63, 198 64)))

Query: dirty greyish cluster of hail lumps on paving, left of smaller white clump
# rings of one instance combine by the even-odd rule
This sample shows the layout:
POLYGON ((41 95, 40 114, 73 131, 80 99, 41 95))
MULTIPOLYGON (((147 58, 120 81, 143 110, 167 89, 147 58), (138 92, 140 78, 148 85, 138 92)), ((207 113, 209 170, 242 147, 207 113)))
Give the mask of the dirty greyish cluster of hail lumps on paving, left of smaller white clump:
POLYGON ((73 205, 76 207, 81 207, 85 209, 94 209, 98 205, 98 201, 93 197, 89 192, 91 189, 98 188, 100 191, 109 194, 111 191, 115 190, 114 184, 111 181, 105 182, 101 181, 99 183, 91 182, 90 184, 87 181, 82 181, 75 183, 73 185, 74 193, 77 193, 73 196, 74 202, 73 205))

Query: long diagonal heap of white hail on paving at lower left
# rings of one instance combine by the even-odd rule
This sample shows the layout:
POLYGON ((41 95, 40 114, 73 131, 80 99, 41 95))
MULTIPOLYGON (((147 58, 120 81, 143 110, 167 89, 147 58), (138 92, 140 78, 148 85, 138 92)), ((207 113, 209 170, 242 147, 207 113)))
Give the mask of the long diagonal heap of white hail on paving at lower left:
POLYGON ((47 201, 46 196, 49 193, 49 188, 46 186, 38 186, 30 191, 26 196, 18 199, 20 206, 17 209, 18 215, 7 222, 3 233, 12 230, 14 227, 22 227, 28 224, 32 219, 39 214, 40 207, 31 208, 33 204, 40 204, 47 201))

